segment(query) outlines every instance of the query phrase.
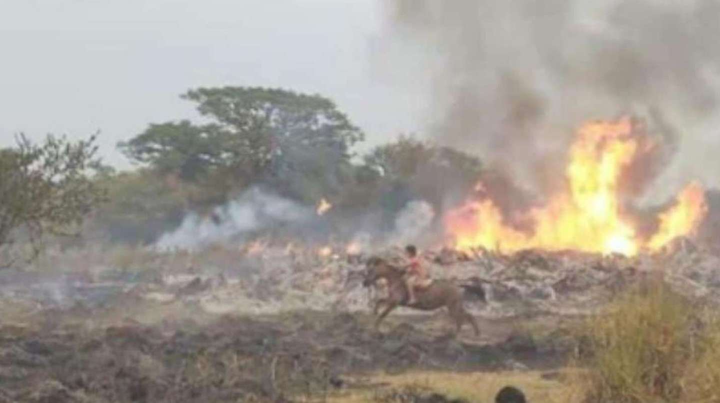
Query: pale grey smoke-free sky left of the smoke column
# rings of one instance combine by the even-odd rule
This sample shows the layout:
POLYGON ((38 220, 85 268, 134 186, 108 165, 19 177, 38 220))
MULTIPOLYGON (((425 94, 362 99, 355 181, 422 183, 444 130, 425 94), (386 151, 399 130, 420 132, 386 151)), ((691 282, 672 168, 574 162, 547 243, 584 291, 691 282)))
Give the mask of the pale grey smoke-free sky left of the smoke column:
POLYGON ((116 144, 194 119, 199 86, 282 87, 336 101, 365 148, 417 132, 421 96, 377 73, 376 0, 1 0, 0 147, 19 132, 116 144))

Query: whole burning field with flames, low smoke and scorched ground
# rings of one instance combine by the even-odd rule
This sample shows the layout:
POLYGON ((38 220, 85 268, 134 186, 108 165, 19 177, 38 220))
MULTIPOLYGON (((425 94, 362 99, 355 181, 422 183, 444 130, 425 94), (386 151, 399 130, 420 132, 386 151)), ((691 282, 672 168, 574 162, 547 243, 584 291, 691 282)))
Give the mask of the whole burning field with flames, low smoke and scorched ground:
POLYGON ((578 330, 588 318, 653 284, 720 303, 712 194, 691 182, 641 203, 663 155, 638 119, 588 122, 546 197, 480 178, 450 208, 410 200, 372 232, 329 197, 304 205, 251 189, 153 245, 48 248, 0 273, 0 402, 492 397, 442 386, 465 376, 492 389, 514 379, 534 402, 577 401, 577 385, 592 384, 572 375, 592 371, 593 336, 578 330), (387 289, 362 285, 366 261, 403 264, 407 243, 434 279, 463 290, 479 336, 405 308, 373 330, 387 289))

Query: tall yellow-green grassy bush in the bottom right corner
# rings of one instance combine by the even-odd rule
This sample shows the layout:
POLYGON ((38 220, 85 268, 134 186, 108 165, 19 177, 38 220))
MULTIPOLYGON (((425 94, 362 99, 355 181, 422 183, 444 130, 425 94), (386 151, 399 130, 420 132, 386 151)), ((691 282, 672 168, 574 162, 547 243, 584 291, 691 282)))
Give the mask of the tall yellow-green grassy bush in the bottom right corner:
POLYGON ((586 402, 716 402, 720 327, 662 281, 588 320, 586 402))

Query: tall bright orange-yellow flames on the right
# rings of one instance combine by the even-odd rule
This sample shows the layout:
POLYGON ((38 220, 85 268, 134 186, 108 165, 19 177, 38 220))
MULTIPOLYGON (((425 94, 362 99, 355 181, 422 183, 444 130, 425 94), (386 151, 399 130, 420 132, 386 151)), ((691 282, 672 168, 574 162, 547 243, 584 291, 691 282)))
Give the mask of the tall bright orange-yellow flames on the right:
MULTIPOLYGON (((706 213, 699 184, 690 184, 675 204, 658 217, 657 232, 642 236, 624 212, 621 185, 627 168, 656 144, 634 131, 631 119, 591 122, 580 127, 570 148, 567 186, 542 207, 523 213, 531 230, 508 224, 492 199, 469 201, 446 216, 446 228, 460 250, 482 247, 513 252, 527 248, 582 250, 635 255, 658 250, 688 235, 706 213)), ((482 184, 476 189, 484 190, 482 184)))

